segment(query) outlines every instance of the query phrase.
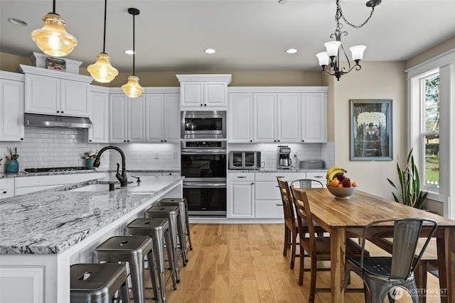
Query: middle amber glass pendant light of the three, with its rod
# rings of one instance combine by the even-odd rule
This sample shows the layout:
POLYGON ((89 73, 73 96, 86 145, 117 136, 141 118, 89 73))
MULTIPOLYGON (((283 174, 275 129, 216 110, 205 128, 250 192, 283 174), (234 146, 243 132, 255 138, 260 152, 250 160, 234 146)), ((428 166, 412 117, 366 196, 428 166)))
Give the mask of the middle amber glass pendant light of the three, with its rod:
POLYGON ((102 53, 97 56, 97 62, 95 64, 89 65, 87 67, 88 72, 90 75, 95 79, 97 82, 101 83, 109 83, 111 82, 117 75, 119 75, 119 71, 112 67, 111 65, 111 58, 105 52, 106 48, 106 10, 107 10, 107 0, 105 0, 105 31, 102 40, 102 53))

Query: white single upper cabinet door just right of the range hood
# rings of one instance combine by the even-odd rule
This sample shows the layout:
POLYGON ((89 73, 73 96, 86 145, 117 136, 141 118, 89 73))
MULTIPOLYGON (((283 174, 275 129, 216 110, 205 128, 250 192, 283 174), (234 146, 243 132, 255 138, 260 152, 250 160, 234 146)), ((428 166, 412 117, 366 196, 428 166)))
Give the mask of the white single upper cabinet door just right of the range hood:
POLYGON ((88 130, 90 143, 109 142, 109 94, 89 92, 89 114, 92 128, 88 130))

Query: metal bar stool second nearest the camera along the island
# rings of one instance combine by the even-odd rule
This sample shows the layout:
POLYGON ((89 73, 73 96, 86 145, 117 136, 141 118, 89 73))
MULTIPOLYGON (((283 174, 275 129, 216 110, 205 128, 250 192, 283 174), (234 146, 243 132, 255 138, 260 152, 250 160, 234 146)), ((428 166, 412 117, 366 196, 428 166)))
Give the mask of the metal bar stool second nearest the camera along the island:
POLYGON ((159 301, 155 278, 153 241, 149 236, 113 236, 95 248, 95 262, 127 262, 135 303, 144 303, 144 259, 147 256, 154 300, 159 301))

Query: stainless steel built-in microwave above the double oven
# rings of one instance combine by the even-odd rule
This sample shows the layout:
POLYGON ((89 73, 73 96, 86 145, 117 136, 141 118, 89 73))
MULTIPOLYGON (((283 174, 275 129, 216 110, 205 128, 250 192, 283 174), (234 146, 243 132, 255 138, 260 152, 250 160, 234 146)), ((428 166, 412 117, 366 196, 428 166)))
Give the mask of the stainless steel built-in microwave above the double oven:
POLYGON ((182 139, 225 139, 226 111, 181 111, 182 139))

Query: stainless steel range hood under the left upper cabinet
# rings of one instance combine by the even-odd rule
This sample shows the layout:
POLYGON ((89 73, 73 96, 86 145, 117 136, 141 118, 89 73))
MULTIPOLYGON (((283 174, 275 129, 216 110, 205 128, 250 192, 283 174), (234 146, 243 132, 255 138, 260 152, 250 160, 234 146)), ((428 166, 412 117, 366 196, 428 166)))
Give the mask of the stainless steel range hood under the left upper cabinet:
POLYGON ((41 114, 24 114, 25 126, 92 128, 92 121, 84 117, 51 116, 41 114))

